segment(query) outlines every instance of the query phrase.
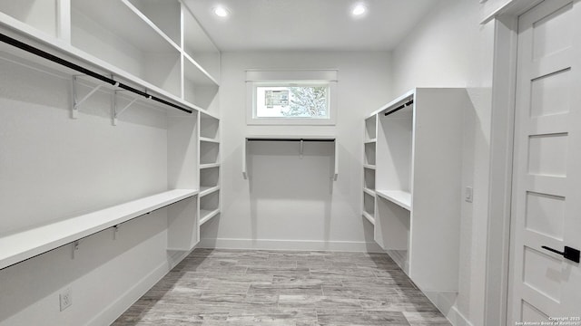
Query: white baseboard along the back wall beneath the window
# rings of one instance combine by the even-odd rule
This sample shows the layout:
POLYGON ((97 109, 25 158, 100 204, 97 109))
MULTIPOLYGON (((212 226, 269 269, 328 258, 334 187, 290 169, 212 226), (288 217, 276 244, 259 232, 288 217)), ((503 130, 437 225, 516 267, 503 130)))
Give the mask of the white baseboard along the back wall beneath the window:
POLYGON ((198 248, 263 249, 263 250, 316 250, 359 253, 385 253, 376 243, 355 241, 269 240, 202 238, 198 248))

